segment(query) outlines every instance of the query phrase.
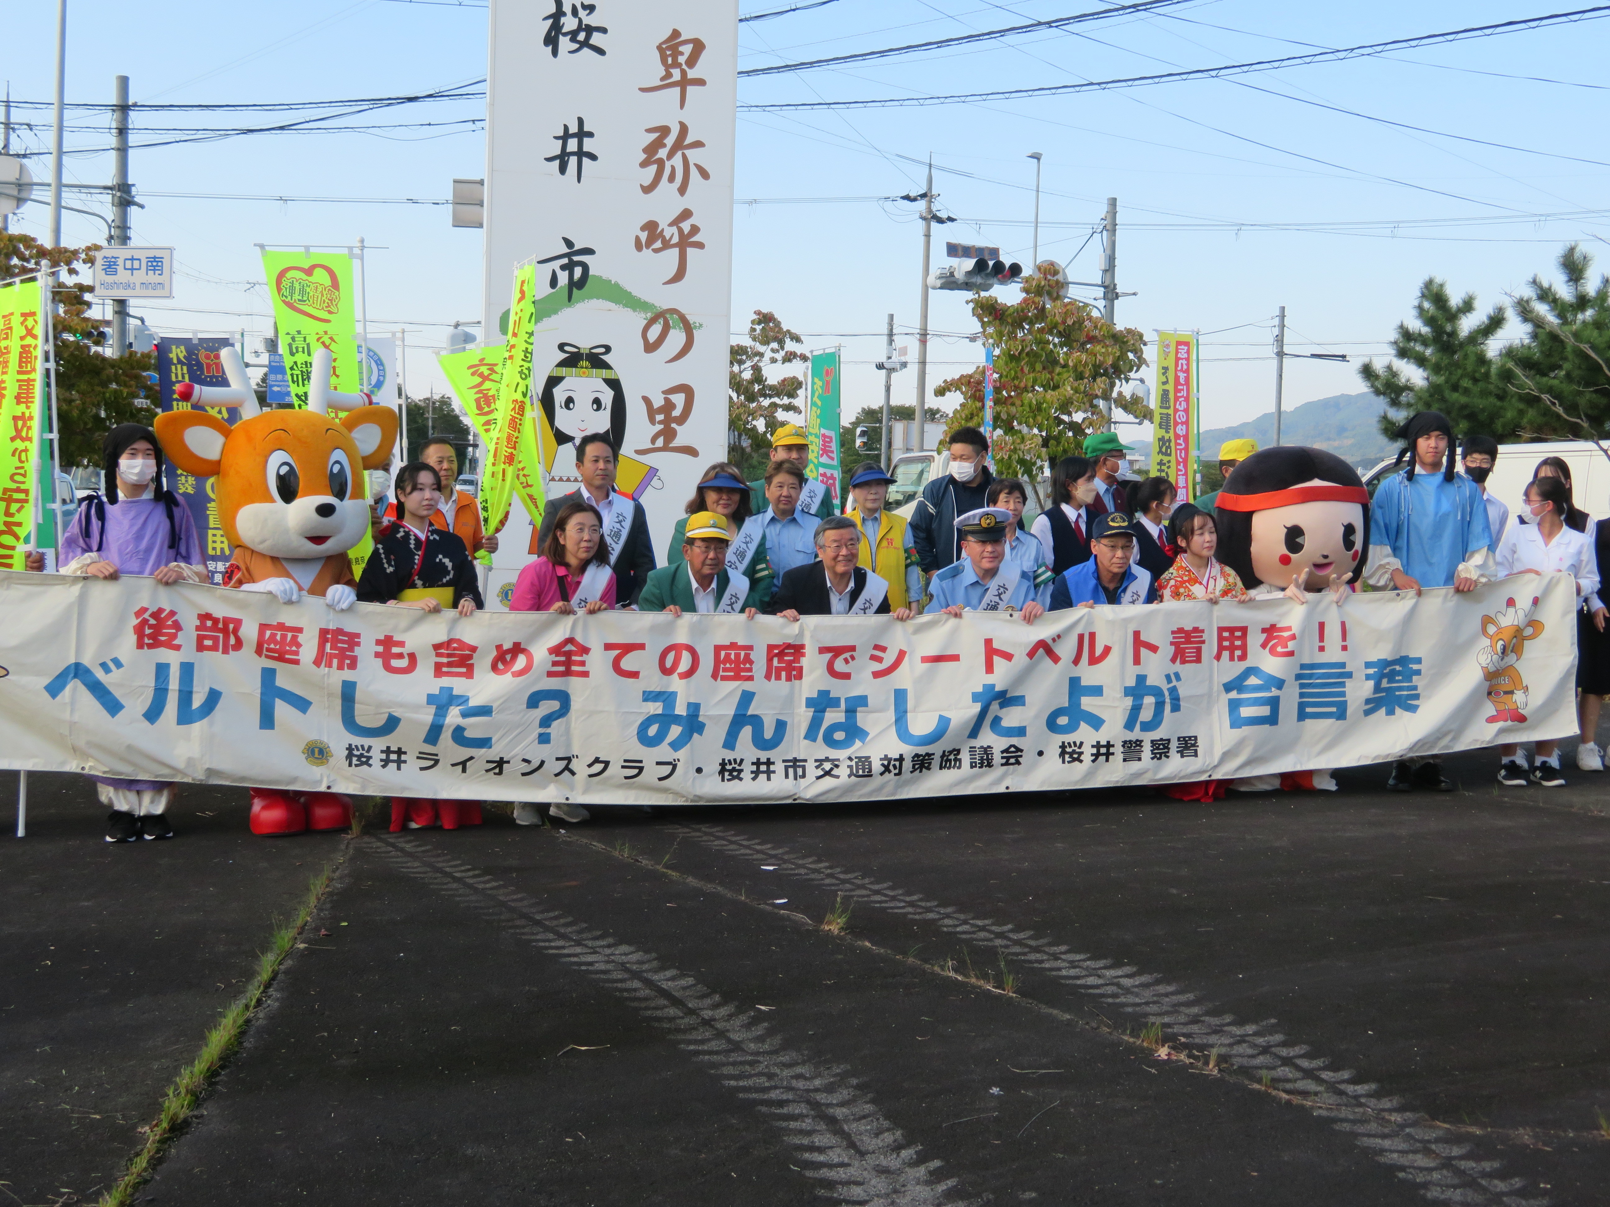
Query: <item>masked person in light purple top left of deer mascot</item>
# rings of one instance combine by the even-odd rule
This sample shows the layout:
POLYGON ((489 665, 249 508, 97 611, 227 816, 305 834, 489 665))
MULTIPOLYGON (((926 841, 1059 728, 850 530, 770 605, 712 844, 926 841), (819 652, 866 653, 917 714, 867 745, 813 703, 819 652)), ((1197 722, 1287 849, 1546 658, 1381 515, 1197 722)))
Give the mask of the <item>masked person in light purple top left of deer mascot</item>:
MULTIPOLYGON (((206 583, 195 520, 163 486, 163 452, 156 433, 122 423, 101 444, 105 497, 85 499, 61 538, 63 575, 116 579, 150 575, 158 583, 206 583)), ((111 806, 106 842, 171 838, 166 814, 172 784, 90 776, 101 803, 111 806)))

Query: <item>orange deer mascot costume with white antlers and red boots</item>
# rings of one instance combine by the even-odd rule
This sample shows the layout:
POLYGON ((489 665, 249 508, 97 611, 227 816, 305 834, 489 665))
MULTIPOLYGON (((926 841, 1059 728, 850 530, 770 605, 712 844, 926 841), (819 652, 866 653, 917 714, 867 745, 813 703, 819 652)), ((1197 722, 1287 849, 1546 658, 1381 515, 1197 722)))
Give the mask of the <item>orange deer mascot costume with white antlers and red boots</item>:
MULTIPOLYGON (((369 533, 362 472, 391 455, 398 414, 369 404, 369 394, 330 389, 330 352, 312 357, 306 410, 258 407, 246 369, 224 349, 229 389, 180 383, 174 391, 196 407, 240 407, 232 428, 206 410, 156 417, 163 452, 184 473, 217 476, 217 512, 235 557, 224 586, 295 604, 320 595, 335 612, 357 600, 348 550, 369 533), (340 420, 330 410, 345 410, 340 420)), ((336 792, 251 789, 253 834, 338 830, 353 821, 353 801, 336 792)))

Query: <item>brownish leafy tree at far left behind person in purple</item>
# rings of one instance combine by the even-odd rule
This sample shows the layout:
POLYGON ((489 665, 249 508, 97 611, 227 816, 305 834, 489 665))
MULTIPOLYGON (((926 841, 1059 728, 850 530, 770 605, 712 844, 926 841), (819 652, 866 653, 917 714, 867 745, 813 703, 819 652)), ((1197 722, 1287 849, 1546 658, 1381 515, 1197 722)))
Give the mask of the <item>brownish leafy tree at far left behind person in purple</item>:
POLYGON ((47 248, 35 238, 0 232, 0 280, 56 269, 55 356, 56 417, 61 423, 61 465, 98 465, 101 438, 119 423, 156 418, 156 372, 151 352, 108 356, 101 344, 106 323, 90 319, 92 283, 71 282, 95 264, 97 245, 47 248))

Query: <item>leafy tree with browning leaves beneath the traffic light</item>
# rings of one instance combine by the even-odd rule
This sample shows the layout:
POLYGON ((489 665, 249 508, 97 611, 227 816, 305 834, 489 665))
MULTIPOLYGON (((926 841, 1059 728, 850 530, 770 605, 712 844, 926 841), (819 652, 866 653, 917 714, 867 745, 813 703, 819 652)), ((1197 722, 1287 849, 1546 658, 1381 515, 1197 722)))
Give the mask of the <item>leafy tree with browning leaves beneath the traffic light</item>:
MULTIPOLYGON (((1101 401, 1140 420, 1151 407, 1119 386, 1146 364, 1146 338, 1113 327, 1085 303, 1064 296, 1053 277, 1024 277, 1022 299, 989 293, 972 299, 984 338, 995 348, 997 470, 1037 481, 1059 459, 1077 454, 1106 422, 1101 401)), ((942 381, 935 394, 960 394, 939 444, 963 425, 984 422, 984 367, 942 381)))

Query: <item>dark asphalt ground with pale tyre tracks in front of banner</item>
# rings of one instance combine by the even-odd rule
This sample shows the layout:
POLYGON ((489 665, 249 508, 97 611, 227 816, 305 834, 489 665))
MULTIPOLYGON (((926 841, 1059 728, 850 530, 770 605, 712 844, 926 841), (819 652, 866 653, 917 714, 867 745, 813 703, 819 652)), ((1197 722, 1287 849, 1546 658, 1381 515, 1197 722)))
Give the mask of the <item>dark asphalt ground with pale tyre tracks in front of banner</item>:
MULTIPOLYGON (((90 850, 89 809, 40 850, 108 898, 137 892, 132 859, 204 879, 217 858, 182 851, 246 851, 299 892, 316 848, 346 855, 156 1204, 1602 1204, 1607 781, 1501 790, 1492 763, 1451 760, 1446 795, 1365 768, 1214 805, 621 809, 357 842, 251 840, 217 793, 235 829, 90 850)), ((219 1004, 182 964, 153 975, 219 1004)), ((50 1011, 31 1027, 68 1070, 100 1051, 50 1011)), ((108 1083, 130 1099, 163 1080, 129 1070, 108 1083)), ((29 1204, 72 1186, 48 1160, 79 1135, 37 1118, 29 1204)))

